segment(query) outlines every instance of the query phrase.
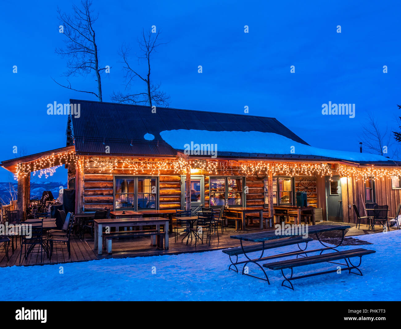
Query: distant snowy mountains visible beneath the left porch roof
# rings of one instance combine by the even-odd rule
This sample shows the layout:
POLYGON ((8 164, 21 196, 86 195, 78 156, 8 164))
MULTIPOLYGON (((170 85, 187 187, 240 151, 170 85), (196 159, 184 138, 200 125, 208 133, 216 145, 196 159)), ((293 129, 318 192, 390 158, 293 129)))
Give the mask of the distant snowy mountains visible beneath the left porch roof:
MULTIPOLYGON (((43 191, 51 191, 53 194, 53 197, 57 199, 59 197, 59 190, 60 186, 63 186, 66 188, 65 184, 61 182, 37 182, 37 183, 32 183, 30 185, 30 198, 31 199, 40 199, 42 197, 43 191)), ((11 200, 11 195, 10 195, 10 190, 12 191, 12 194, 14 194, 14 200, 16 199, 16 192, 17 192, 17 182, 0 182, 0 202, 3 202, 3 204, 8 204, 10 203, 11 200), (10 187, 11 184, 11 187, 10 187), (15 192, 13 191, 13 188, 15 192)))

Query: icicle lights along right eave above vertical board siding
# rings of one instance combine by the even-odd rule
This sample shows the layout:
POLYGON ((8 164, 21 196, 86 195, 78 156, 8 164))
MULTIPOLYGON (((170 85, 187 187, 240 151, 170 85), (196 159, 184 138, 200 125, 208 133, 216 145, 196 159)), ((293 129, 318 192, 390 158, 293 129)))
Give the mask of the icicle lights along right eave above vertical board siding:
POLYGON ((393 168, 383 168, 383 167, 364 167, 364 168, 356 168, 350 166, 338 165, 337 168, 338 174, 341 177, 350 177, 354 176, 356 179, 367 180, 369 177, 372 177, 374 180, 381 179, 384 180, 385 177, 391 178, 394 176, 401 176, 401 168, 393 167, 393 168))

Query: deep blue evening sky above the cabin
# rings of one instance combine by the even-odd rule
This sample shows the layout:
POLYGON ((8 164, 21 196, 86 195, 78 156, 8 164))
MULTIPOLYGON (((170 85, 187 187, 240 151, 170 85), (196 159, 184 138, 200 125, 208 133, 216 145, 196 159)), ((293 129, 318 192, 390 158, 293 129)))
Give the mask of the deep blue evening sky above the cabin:
MULTIPOLYGON (((51 80, 65 82, 65 59, 55 53, 64 45, 57 5, 71 12, 72 3, 2 2, 0 160, 15 157, 13 146, 25 154, 65 146, 67 118, 47 115, 47 104, 97 100, 51 80)), ((156 25, 168 44, 154 56, 152 76, 170 95, 170 107, 241 114, 249 106, 249 114, 277 118, 312 146, 346 151, 359 150, 369 112, 383 129, 397 128, 399 1, 94 1, 93 9, 99 61, 112 67, 102 76, 103 101, 123 91, 122 43, 135 52, 142 28, 156 25), (355 117, 322 115, 329 101, 355 104, 355 117)), ((96 91, 91 76, 70 81, 96 91)), ((138 80, 134 88, 145 85, 138 80)), ((0 181, 9 177, 0 169, 0 181)), ((50 180, 66 178, 58 169, 50 180)))

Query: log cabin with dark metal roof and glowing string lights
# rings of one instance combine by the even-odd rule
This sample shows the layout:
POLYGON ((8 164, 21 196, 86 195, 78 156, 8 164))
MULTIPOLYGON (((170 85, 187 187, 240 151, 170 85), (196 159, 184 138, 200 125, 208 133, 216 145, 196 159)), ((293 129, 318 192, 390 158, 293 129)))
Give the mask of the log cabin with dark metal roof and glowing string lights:
POLYGON ((401 202, 399 162, 381 155, 318 149, 277 119, 87 100, 67 115, 66 146, 1 166, 18 180, 26 217, 30 174, 68 169, 75 212, 266 208, 296 204, 296 192, 322 219, 356 223, 352 204, 401 202), (68 118, 68 119, 67 119, 68 118), (188 183, 188 184, 187 184, 188 183))

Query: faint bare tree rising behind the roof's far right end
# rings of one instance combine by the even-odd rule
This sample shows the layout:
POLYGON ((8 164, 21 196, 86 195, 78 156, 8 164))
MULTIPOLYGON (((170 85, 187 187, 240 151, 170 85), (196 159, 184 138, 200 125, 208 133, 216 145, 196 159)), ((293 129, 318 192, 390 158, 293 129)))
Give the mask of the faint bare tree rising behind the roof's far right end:
MULTIPOLYGON (((363 137, 360 137, 360 139, 363 142, 364 149, 368 153, 389 156, 387 152, 391 145, 393 145, 393 142, 391 141, 388 127, 381 129, 375 116, 369 113, 367 122, 362 126, 362 131, 363 137)), ((394 155, 395 153, 396 150, 393 150, 392 154, 394 155)))

